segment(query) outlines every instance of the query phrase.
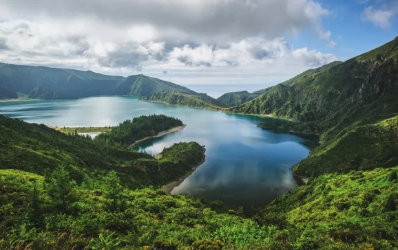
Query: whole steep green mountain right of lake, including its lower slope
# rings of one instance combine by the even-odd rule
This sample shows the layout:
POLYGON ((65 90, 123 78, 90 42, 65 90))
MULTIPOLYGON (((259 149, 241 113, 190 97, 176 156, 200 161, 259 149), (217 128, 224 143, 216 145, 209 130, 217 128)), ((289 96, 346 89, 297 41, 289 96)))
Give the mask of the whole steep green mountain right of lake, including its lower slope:
POLYGON ((397 96, 395 38, 346 62, 305 71, 227 111, 291 119, 260 125, 266 129, 321 134, 322 145, 295 167, 295 174, 311 177, 397 165, 398 120, 390 119, 398 115, 397 96))

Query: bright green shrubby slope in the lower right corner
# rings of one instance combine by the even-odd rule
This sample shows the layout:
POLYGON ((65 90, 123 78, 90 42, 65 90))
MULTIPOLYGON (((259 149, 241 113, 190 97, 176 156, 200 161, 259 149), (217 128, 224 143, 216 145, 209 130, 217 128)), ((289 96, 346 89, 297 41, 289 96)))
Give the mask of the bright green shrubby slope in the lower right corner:
POLYGON ((396 249, 398 167, 326 174, 280 196, 258 216, 279 224, 295 249, 396 249))

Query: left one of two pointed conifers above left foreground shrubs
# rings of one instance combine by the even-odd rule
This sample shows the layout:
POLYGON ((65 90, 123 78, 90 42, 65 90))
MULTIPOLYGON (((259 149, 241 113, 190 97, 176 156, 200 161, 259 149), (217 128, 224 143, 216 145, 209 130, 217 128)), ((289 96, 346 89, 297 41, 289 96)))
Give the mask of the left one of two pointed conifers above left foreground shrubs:
POLYGON ((65 166, 58 166, 51 174, 48 184, 48 194, 54 202, 61 203, 64 211, 74 184, 74 181, 70 180, 69 172, 67 172, 65 166))

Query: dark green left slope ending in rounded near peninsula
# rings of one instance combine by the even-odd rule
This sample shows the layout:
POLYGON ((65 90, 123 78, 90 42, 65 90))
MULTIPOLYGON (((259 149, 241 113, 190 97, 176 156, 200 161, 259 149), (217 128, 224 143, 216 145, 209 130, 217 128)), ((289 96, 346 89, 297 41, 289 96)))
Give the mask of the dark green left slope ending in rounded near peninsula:
POLYGON ((87 175, 101 179, 104 172, 118 170, 130 187, 159 186, 184 176, 203 157, 202 147, 194 142, 171 146, 174 157, 166 154, 162 159, 154 159, 151 155, 102 146, 90 138, 67 136, 45 125, 3 116, 0 116, 0 138, 1 169, 44 175, 59 164, 65 164, 78 183, 87 175), (181 145, 186 150, 178 154, 174 149, 181 145), (164 165, 167 168, 162 168, 164 165))

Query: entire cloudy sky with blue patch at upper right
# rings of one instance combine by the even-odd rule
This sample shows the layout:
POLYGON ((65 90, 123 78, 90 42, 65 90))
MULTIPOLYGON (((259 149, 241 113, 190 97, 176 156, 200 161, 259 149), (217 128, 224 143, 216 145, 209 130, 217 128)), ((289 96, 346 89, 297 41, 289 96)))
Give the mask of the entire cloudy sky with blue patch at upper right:
POLYGON ((263 89, 398 36, 398 0, 0 0, 0 62, 263 89))

